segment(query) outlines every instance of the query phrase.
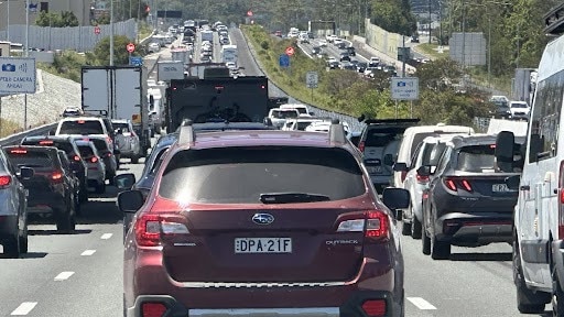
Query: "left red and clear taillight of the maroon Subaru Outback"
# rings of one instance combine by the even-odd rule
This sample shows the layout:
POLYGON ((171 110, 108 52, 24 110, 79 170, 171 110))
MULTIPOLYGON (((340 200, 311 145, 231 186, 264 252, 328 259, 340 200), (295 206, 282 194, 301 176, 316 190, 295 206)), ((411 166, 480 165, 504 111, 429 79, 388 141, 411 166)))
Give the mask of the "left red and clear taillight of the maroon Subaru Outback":
POLYGON ((143 215, 135 222, 135 239, 141 247, 156 247, 162 236, 186 234, 184 223, 173 222, 160 215, 143 215))

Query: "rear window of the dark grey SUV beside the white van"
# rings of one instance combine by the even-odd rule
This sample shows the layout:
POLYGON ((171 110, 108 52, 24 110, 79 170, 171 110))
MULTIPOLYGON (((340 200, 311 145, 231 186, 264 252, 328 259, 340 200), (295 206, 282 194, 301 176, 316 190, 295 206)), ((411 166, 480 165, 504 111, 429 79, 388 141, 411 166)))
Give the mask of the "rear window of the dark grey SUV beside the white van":
POLYGON ((470 145, 460 147, 457 152, 457 171, 462 172, 492 172, 495 171, 496 156, 495 145, 470 145))

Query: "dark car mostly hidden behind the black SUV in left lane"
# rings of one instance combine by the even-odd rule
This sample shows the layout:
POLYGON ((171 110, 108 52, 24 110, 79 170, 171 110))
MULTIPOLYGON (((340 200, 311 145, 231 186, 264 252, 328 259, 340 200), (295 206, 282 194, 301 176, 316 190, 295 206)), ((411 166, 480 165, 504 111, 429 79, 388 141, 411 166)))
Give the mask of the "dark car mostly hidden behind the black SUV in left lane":
POLYGON ((70 170, 80 182, 78 201, 88 201, 88 166, 80 156, 80 150, 72 136, 25 136, 20 145, 55 146, 65 151, 70 163, 70 170))

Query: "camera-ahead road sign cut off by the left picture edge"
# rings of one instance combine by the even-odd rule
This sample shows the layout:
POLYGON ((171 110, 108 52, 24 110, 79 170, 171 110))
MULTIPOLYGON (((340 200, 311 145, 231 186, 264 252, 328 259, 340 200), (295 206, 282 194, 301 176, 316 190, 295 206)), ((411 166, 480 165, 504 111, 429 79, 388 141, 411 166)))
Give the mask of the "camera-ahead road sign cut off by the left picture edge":
POLYGON ((35 94, 35 58, 0 57, 0 94, 35 94))

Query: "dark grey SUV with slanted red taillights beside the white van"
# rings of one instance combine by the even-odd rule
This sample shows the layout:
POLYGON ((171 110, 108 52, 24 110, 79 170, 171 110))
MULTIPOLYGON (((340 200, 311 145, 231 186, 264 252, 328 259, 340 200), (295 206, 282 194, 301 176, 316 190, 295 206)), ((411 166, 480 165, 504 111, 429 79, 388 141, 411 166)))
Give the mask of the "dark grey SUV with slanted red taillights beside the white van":
MULTIPOLYGON (((520 161, 524 138, 516 138, 514 157, 520 161)), ((506 178, 520 175, 519 164, 496 163, 496 135, 457 135, 446 142, 434 175, 431 166, 417 168, 429 177, 423 192, 424 254, 447 259, 451 245, 480 247, 512 242, 513 207, 518 190, 506 178)))

